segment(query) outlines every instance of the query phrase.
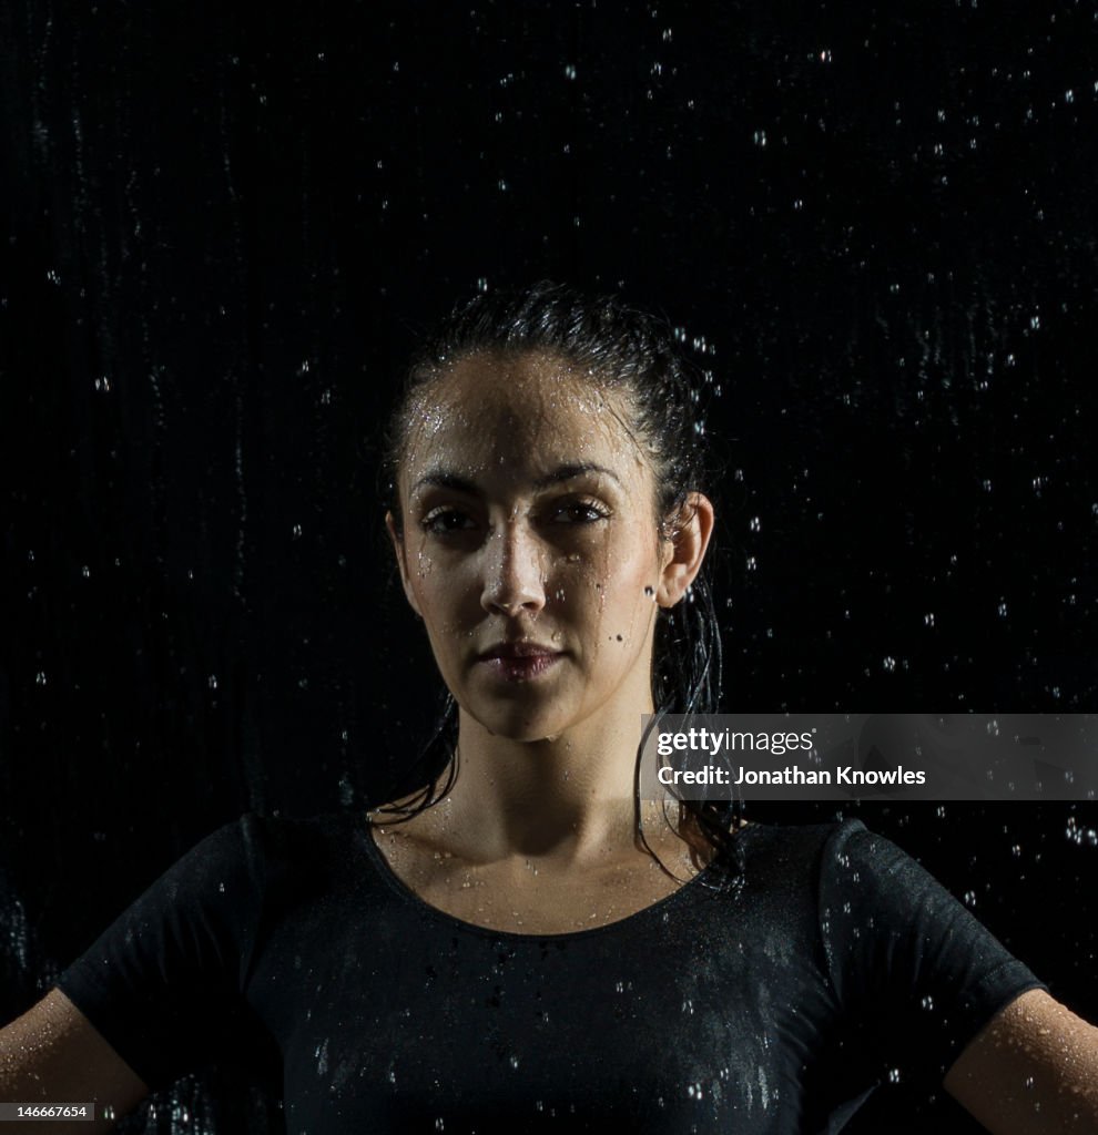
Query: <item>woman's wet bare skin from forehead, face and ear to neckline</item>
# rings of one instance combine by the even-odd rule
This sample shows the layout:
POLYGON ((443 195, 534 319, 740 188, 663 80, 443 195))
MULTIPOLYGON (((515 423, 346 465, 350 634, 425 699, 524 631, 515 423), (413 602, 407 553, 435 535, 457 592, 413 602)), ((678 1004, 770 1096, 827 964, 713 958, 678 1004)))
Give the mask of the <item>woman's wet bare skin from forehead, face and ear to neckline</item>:
MULTIPOLYGON (((389 527, 460 707, 460 774, 378 842, 421 897, 469 920, 521 913, 552 932, 674 886, 635 843, 634 763, 656 614, 701 565, 712 508, 695 496, 688 521, 661 527, 631 410, 535 355, 460 360, 417 407, 389 527)), ((688 863, 662 821, 652 831, 688 863)))

